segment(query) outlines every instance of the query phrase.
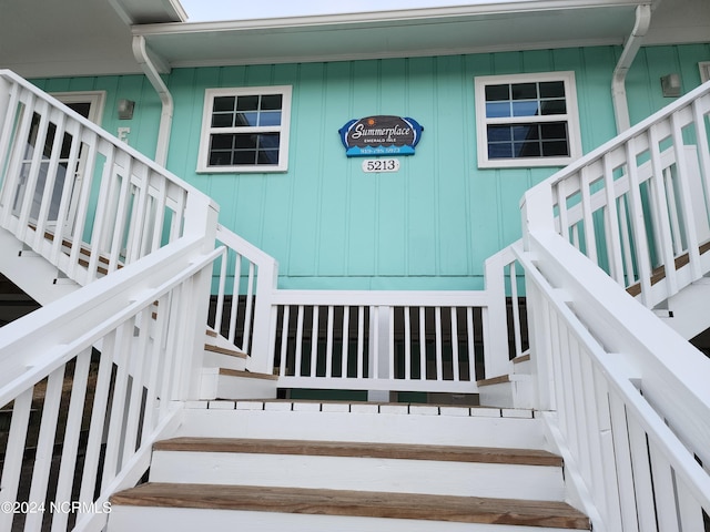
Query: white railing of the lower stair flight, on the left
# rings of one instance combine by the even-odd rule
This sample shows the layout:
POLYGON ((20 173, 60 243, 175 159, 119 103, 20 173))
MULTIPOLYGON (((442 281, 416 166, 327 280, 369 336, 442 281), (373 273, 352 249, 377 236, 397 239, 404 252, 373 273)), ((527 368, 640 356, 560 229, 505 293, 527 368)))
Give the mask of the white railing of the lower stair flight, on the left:
POLYGON ((199 397, 194 315, 222 253, 203 244, 183 238, 3 327, 0 530, 101 530, 109 497, 145 473, 199 397))

